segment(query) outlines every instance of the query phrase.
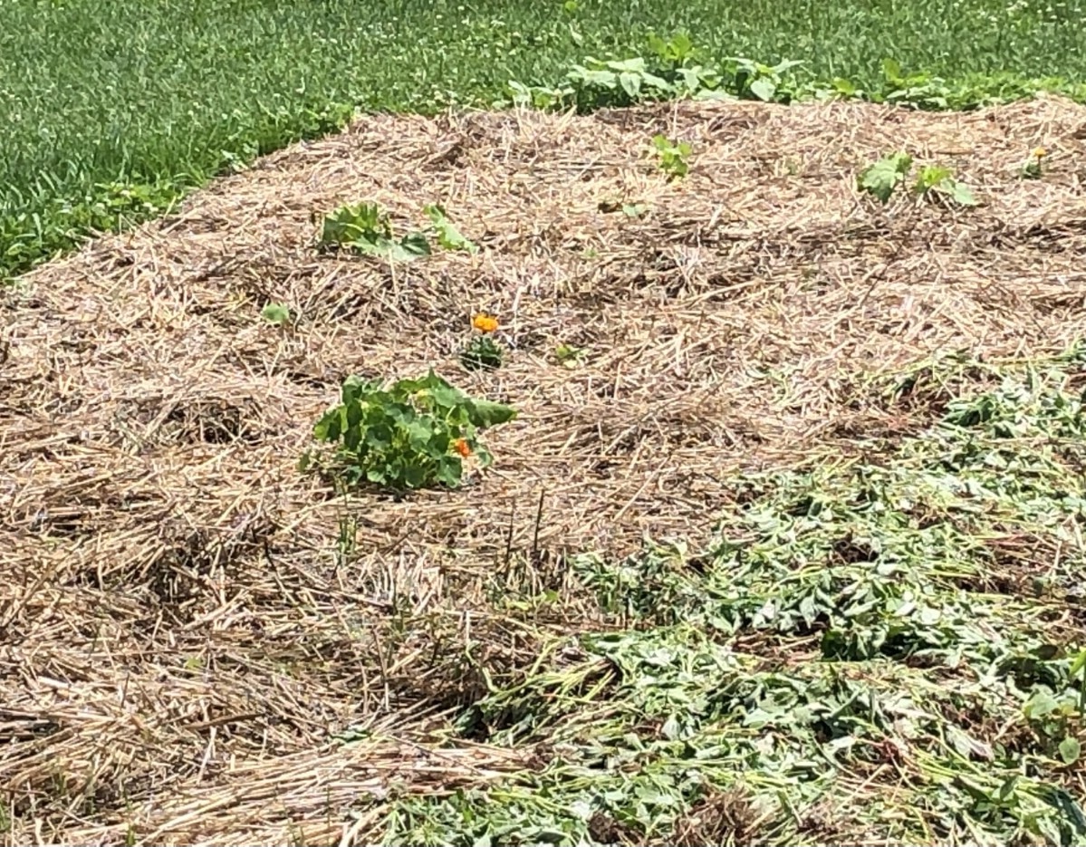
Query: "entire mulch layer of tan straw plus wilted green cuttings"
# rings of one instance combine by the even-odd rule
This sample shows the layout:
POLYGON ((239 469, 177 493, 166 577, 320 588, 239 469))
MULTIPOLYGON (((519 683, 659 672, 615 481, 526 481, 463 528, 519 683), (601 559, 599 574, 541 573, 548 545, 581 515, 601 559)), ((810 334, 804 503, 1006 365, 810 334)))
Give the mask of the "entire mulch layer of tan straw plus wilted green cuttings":
POLYGON ((1084 123, 370 117, 24 278, 2 842, 1083 842, 1084 123), (981 205, 862 197, 888 150, 981 205), (318 251, 359 201, 480 249, 318 251), (430 365, 518 408, 491 468, 299 472, 430 365))

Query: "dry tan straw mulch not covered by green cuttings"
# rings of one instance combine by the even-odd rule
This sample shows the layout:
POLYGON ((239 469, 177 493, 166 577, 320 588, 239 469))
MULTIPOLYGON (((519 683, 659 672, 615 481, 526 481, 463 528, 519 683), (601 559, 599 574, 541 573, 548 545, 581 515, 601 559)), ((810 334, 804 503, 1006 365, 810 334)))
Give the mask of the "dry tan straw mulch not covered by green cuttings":
POLYGON ((35 273, 0 364, 5 843, 365 842, 390 792, 527 767, 433 733, 480 668, 591 621, 516 623, 485 590, 696 541, 734 473, 924 423, 881 375, 1083 334, 1084 121, 1052 99, 370 117, 35 273), (657 131, 693 143, 686 179, 645 155, 657 131), (1039 146, 1045 178, 1020 180, 1039 146), (896 149, 984 205, 860 199, 896 149), (311 215, 359 200, 404 226, 441 202, 483 249, 318 255, 311 215), (265 325, 269 300, 299 326, 265 325), (515 351, 492 375, 455 364, 475 311, 515 351), (521 410, 493 469, 349 503, 296 472, 343 376, 430 364, 521 410))

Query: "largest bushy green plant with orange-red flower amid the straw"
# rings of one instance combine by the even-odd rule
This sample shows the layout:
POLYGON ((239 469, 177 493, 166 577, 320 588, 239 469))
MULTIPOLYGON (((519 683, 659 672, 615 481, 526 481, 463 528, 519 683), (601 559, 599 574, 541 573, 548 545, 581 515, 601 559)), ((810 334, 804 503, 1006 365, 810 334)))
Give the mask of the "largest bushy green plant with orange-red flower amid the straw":
MULTIPOLYGON (((340 404, 321 416, 313 434, 338 445, 336 469, 349 484, 457 488, 465 458, 473 455, 481 466, 493 462, 479 433, 516 415, 512 406, 468 396, 432 368, 390 385, 351 376, 340 404)), ((307 464, 303 458, 303 468, 307 464)))

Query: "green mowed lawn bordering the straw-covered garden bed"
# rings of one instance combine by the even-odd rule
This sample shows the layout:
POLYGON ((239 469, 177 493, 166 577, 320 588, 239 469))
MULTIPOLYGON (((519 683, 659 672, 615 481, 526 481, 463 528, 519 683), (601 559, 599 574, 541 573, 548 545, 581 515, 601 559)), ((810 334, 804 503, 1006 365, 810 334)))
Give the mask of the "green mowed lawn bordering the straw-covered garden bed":
POLYGON ((487 105, 585 55, 693 34, 709 60, 801 59, 876 86, 881 61, 1022 93, 1086 78, 1083 0, 720 4, 12 0, 0 31, 0 274, 168 207, 352 108, 487 105), (1033 80, 1033 81, 1027 81, 1033 80))

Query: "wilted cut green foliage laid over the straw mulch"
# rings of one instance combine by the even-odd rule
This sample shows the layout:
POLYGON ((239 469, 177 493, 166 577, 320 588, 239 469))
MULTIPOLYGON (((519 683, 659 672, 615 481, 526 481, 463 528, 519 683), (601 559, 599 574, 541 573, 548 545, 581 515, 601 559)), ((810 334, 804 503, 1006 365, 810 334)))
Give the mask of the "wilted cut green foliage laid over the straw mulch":
POLYGON ((450 739, 531 764, 405 792, 383 843, 1086 845, 1083 350, 887 380, 965 384, 904 439, 736 478, 706 546, 501 577, 502 632, 561 624, 512 670, 457 642, 487 685, 450 739))

